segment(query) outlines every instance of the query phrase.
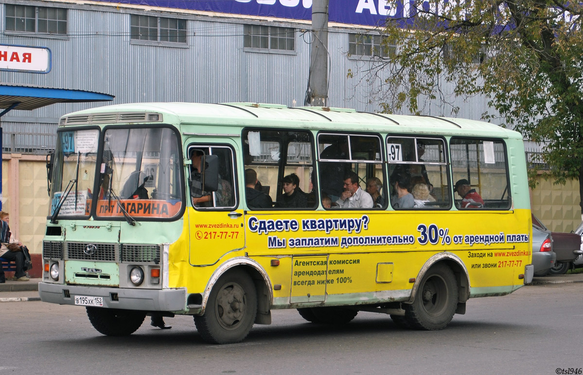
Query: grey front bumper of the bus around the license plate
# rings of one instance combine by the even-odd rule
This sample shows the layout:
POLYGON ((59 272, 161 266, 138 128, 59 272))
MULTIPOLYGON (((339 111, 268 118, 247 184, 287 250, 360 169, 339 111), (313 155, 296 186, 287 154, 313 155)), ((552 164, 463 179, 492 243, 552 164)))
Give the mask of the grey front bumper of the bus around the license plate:
POLYGON ((186 309, 186 289, 124 289, 38 283, 43 302, 75 305, 75 296, 101 297, 110 309, 178 312, 186 309))

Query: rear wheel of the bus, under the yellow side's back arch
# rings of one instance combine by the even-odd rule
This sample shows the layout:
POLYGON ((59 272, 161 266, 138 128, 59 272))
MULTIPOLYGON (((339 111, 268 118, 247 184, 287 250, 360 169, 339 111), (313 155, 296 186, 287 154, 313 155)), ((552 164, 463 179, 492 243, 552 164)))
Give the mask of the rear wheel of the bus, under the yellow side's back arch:
POLYGON ((423 276, 415 300, 405 305, 405 318, 420 330, 441 330, 454 317, 458 284, 451 268, 437 264, 423 276))

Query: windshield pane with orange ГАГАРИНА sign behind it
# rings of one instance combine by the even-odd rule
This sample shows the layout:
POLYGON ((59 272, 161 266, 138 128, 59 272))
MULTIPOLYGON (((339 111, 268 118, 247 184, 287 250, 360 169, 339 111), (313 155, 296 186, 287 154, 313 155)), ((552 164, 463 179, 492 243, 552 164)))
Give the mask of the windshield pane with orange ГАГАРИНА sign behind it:
POLYGON ((97 217, 171 218, 181 211, 180 153, 168 128, 107 129, 97 217))

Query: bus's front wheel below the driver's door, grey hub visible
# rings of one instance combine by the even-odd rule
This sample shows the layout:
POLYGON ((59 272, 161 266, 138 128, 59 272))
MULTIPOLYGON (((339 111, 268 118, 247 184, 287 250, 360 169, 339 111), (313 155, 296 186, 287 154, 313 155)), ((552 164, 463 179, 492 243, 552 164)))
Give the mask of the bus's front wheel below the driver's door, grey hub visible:
POLYGON ((241 270, 222 275, 210 291, 205 313, 194 316, 196 330, 211 344, 243 341, 257 315, 257 291, 241 270))

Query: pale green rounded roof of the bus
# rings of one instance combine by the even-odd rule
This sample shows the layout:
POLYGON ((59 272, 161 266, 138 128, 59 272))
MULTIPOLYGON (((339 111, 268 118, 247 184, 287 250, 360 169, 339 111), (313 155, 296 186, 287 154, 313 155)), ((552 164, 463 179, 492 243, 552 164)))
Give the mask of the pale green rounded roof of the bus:
MULTIPOLYGON (((73 112, 59 125, 147 122, 147 114, 161 114, 162 122, 174 125, 285 126, 298 129, 353 132, 416 133, 428 135, 482 135, 522 139, 513 130, 482 121, 461 118, 389 115, 357 112, 347 108, 287 107, 258 103, 143 102, 107 105, 73 112)), ((152 121, 150 121, 152 122, 152 121)))

